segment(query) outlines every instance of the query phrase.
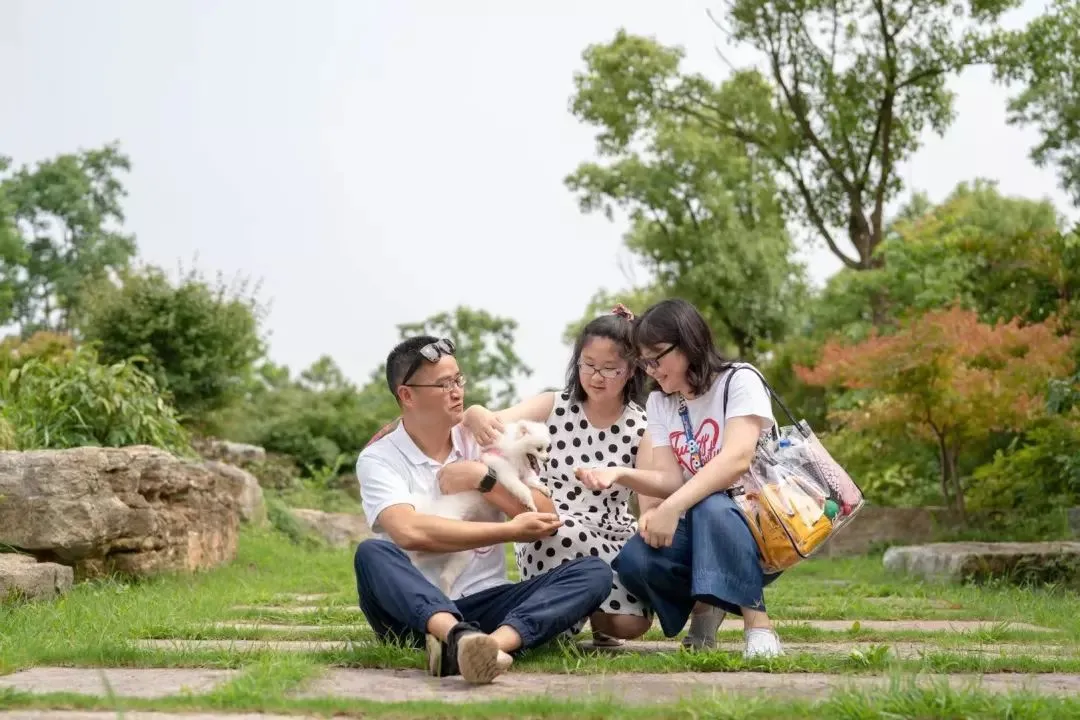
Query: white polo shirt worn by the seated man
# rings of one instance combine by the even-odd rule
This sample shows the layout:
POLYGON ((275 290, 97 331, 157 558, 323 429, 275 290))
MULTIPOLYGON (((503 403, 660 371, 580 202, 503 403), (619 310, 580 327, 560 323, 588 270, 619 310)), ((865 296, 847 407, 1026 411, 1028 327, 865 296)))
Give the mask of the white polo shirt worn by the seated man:
MULTIPOLYGON (((442 493, 438 491, 435 474, 444 464, 458 460, 480 460, 480 447, 464 427, 455 426, 450 431, 450 440, 453 450, 446 463, 440 463, 417 447, 405 432, 405 423, 399 423, 393 432, 372 443, 360 453, 356 459, 360 495, 364 515, 377 538, 393 542, 379 525, 379 514, 382 511, 391 505, 413 504, 413 495, 437 498, 442 493)), ((484 512, 484 520, 500 522, 507 519, 492 505, 485 507, 484 512)), ((465 552, 473 554, 472 561, 450 588, 451 600, 509 582, 507 558, 501 544, 465 552)), ((426 576, 437 587, 437 578, 430 574, 426 576)))

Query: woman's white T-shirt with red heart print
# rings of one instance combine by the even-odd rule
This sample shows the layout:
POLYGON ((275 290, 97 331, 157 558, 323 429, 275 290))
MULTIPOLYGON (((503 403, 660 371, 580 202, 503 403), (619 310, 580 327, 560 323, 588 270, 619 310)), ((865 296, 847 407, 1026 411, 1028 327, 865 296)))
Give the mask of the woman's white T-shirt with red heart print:
MULTIPOLYGON (((739 364, 739 367, 752 366, 743 363, 739 364)), ((690 426, 693 429, 693 436, 701 452, 702 467, 720 451, 724 443, 724 421, 727 418, 757 416, 766 420, 762 431, 769 430, 775 423, 769 391, 765 389, 761 378, 752 369, 739 370, 732 378, 728 390, 728 411, 725 417, 724 385, 731 371, 728 369, 720 372, 707 392, 686 402, 690 426)), ((690 463, 690 447, 686 441, 683 420, 678 415, 678 395, 664 395, 660 391, 649 394, 645 412, 649 419, 649 437, 652 438, 653 447, 670 447, 683 468, 683 478, 690 479, 693 476, 693 468, 690 463)))

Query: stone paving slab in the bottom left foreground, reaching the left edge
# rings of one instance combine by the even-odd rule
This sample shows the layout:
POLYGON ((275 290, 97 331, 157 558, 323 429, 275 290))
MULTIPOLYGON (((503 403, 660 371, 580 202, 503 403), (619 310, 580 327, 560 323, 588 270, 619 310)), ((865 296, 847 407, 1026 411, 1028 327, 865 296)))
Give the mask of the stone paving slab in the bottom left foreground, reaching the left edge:
POLYGON ((188 668, 33 667, 0 676, 0 689, 107 695, 111 688, 113 694, 124 697, 164 697, 183 692, 210 692, 231 680, 237 673, 188 668))

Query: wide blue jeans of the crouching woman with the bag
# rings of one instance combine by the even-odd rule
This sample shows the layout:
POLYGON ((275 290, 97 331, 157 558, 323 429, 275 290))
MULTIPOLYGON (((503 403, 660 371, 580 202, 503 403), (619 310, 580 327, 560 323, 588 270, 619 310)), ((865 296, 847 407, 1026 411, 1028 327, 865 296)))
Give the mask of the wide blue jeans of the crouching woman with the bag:
POLYGON ((698 600, 737 615, 742 608, 765 612, 765 587, 780 576, 761 570, 746 519, 725 492, 691 507, 669 547, 650 547, 634 535, 611 567, 652 607, 669 638, 683 629, 698 600))

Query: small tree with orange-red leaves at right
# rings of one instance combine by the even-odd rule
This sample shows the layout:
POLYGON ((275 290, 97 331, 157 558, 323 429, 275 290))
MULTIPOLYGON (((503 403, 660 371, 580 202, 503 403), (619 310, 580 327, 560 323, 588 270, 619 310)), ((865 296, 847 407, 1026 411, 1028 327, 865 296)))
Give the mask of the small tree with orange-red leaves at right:
POLYGON ((942 495, 962 517, 958 461, 966 445, 1044 416, 1050 380, 1072 369, 1071 347, 1052 320, 988 325, 954 307, 909 320, 893 335, 875 329, 862 342, 831 341, 816 366, 796 373, 855 393, 850 407, 832 413, 851 430, 931 439, 942 495))

